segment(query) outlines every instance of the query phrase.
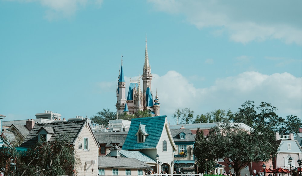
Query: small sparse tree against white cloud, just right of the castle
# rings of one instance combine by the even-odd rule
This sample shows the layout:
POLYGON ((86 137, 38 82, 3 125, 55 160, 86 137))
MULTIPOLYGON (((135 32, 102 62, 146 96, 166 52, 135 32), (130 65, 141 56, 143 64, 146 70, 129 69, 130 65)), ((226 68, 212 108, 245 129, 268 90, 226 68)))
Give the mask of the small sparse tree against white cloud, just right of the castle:
POLYGON ((189 108, 182 109, 181 111, 177 109, 173 114, 173 119, 175 119, 176 124, 189 124, 193 122, 194 111, 189 108))

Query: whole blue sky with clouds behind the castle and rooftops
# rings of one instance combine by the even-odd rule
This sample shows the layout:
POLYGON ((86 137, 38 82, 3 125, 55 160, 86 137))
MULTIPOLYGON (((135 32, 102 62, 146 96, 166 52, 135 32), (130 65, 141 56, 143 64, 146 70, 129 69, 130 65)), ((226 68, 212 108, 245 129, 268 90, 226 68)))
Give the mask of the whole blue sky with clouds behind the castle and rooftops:
MULTIPOLYGON (((0 0, 0 114, 35 119, 116 112, 143 73, 160 114, 236 112, 247 101, 302 119, 302 1, 0 0), (128 86, 127 86, 128 90, 128 86)), ((142 85, 142 81, 141 81, 142 85)))

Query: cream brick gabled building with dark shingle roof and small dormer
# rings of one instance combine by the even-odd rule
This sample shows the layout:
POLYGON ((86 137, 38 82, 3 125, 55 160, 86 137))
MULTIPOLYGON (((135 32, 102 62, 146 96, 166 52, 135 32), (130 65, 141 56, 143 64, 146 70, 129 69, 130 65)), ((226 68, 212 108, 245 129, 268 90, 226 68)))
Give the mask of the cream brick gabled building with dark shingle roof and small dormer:
POLYGON ((74 146, 74 153, 79 157, 81 165, 78 167, 78 175, 95 175, 93 166, 98 165, 99 146, 88 124, 88 119, 54 121, 52 123, 35 124, 31 121, 32 129, 27 135, 21 147, 29 148, 40 140, 51 142, 69 136, 68 142, 74 146))

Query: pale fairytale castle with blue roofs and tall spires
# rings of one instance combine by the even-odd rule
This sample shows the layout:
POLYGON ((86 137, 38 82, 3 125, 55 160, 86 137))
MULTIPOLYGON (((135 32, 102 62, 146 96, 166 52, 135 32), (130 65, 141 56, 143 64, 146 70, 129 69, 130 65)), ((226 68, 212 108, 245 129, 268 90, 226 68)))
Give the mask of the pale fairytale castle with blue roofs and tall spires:
MULTIPOLYGON (((123 57, 123 56, 122 56, 123 57)), ((153 102, 153 93, 151 91, 151 67, 149 65, 149 57, 147 50, 147 37, 146 37, 146 51, 145 51, 145 64, 143 66, 143 90, 140 87, 140 76, 138 81, 131 81, 126 99, 126 82, 123 72, 123 60, 121 60, 121 69, 117 81, 116 97, 117 103, 115 104, 117 113, 121 114, 134 114, 137 111, 149 110, 152 116, 159 116, 160 103, 157 96, 153 102)))

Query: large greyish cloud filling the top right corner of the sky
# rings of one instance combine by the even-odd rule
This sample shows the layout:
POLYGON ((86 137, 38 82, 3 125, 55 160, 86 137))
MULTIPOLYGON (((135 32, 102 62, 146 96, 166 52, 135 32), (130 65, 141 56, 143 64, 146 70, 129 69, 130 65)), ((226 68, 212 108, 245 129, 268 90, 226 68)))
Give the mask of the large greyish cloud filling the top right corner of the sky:
POLYGON ((197 28, 214 28, 215 36, 224 32, 241 43, 280 39, 302 44, 302 1, 174 1, 149 0, 159 11, 183 14, 197 28), (285 8, 286 7, 286 8, 285 8), (221 29, 222 28, 222 29, 221 29))

